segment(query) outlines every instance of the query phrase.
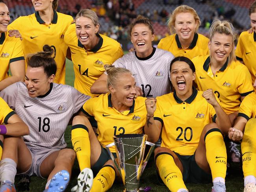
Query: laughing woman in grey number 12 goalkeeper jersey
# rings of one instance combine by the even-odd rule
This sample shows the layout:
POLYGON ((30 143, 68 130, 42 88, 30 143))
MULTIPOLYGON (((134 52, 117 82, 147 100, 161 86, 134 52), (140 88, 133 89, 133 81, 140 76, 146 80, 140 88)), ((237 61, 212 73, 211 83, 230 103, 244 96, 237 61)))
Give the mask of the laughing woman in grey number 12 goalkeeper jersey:
MULTIPOLYGON (((169 66, 174 56, 168 51, 152 46, 154 29, 148 18, 138 16, 129 27, 134 51, 117 59, 115 67, 124 67, 134 75, 136 96, 156 98, 170 92, 169 66)), ((107 73, 98 78, 91 87, 92 93, 108 91, 107 73)))

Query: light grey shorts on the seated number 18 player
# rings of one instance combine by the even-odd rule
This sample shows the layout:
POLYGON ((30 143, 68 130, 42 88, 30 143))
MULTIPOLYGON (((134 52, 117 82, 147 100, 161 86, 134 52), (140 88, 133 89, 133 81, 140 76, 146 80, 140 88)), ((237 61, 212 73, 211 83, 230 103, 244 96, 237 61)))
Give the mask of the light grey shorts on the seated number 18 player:
MULTIPOLYGON (((51 153, 54 153, 55 151, 59 151, 60 149, 42 149, 42 150, 35 150, 32 148, 28 147, 28 150, 30 150, 31 156, 32 156, 32 163, 30 168, 24 172, 24 173, 20 173, 20 174, 28 174, 28 175, 37 175, 38 177, 44 178, 42 177, 42 175, 40 174, 40 166, 41 163, 45 160, 46 157, 48 157, 51 153)), ((19 174, 17 174, 19 175, 19 174)), ((46 179, 46 178, 44 178, 46 179)))

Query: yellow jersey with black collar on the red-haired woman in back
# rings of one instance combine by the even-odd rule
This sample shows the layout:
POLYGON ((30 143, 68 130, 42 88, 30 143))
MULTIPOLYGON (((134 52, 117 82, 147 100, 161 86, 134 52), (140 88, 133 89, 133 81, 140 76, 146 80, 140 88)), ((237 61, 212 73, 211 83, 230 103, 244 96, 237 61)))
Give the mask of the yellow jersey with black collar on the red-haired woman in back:
POLYGON ((183 49, 178 35, 173 34, 160 40, 158 48, 171 52, 175 57, 184 56, 189 59, 196 57, 197 55, 207 55, 209 39, 204 35, 195 33, 194 39, 187 49, 183 49))

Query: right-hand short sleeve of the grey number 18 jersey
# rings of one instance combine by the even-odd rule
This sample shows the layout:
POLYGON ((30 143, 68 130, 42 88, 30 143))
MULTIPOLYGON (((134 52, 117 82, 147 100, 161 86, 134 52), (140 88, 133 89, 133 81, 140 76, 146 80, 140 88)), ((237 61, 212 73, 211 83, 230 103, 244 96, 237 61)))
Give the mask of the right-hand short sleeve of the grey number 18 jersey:
POLYGON ((78 90, 76 90, 74 87, 72 87, 71 90, 71 94, 72 94, 72 102, 74 105, 74 109, 75 109, 75 113, 79 111, 79 109, 81 109, 81 107, 83 106, 83 104, 89 99, 91 98, 88 95, 82 94, 80 93, 78 90))

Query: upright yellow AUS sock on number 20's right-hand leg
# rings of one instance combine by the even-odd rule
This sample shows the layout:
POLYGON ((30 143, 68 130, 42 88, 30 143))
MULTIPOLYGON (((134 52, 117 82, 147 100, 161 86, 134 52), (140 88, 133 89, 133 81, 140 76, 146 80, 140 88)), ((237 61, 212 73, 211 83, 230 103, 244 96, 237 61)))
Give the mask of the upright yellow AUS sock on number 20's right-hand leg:
POLYGON ((225 179, 227 153, 221 131, 217 128, 209 130, 204 136, 204 141, 212 178, 222 177, 225 179))

